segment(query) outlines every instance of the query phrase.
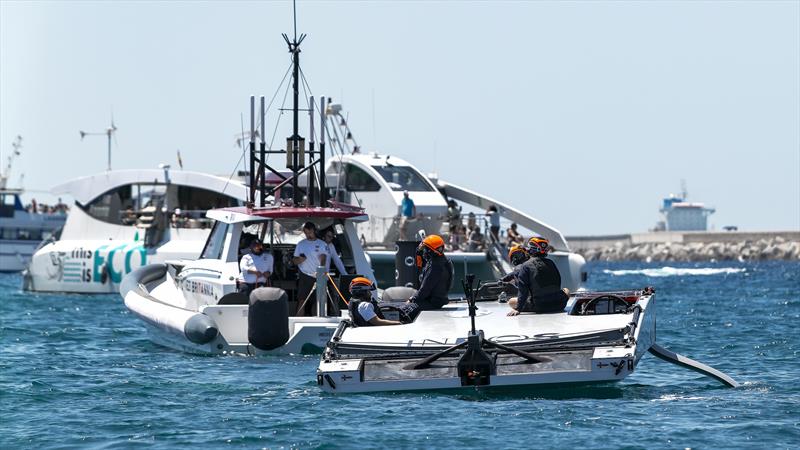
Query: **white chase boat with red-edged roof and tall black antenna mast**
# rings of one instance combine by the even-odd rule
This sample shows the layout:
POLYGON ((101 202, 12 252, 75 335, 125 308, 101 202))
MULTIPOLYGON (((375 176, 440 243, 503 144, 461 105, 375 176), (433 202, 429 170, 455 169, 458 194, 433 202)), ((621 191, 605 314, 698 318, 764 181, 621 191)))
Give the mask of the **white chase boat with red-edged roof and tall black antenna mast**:
MULTIPOLYGON (((374 281, 356 224, 367 220, 364 210, 329 201, 325 188, 325 100, 320 102, 319 146, 315 148, 313 97, 309 110, 311 136, 306 149, 298 131, 300 42, 284 35, 293 65, 293 132, 286 150, 266 148, 265 102, 261 97, 260 148, 256 151, 255 97, 250 98, 249 201, 244 207, 208 211, 216 222, 197 260, 167 261, 141 267, 120 286, 125 306, 145 323, 156 343, 200 354, 264 354, 321 351, 343 316, 338 310, 343 296, 325 288, 334 280, 323 266, 306 298, 298 295, 297 268, 291 263, 302 226, 313 222, 330 229, 335 246, 351 275, 374 281), (267 155, 280 154, 291 170, 288 176, 267 164, 267 155), (282 179, 271 185, 267 173, 282 179), (305 175, 307 184, 300 183, 305 175), (289 198, 286 198, 286 197, 289 198), (258 288, 249 298, 237 292, 240 249, 248 238, 258 237, 274 258, 271 286, 258 288), (316 316, 300 315, 307 302, 316 316), (330 308, 329 308, 330 307, 330 308), (297 312, 297 313, 295 313, 297 312)), ((273 159, 273 160, 275 160, 273 159)), ((286 173, 284 171, 284 173, 286 173)), ((333 283, 331 283, 333 284, 333 283)), ((346 292, 346 291, 345 291, 346 292)))

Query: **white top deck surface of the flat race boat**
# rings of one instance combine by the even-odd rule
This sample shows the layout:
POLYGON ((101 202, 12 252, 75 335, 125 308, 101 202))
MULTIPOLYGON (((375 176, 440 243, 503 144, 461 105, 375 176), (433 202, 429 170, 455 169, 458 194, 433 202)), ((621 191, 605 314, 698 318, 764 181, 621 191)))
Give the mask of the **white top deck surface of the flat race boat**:
MULTIPOLYGON (((511 310, 505 303, 479 302, 475 328, 497 342, 514 342, 534 338, 554 338, 555 335, 574 335, 592 331, 624 328, 632 314, 570 316, 523 313, 508 317, 511 310)), ((342 343, 393 346, 453 345, 467 337, 470 318, 466 302, 450 303, 441 310, 423 311, 414 323, 394 326, 348 328, 342 343)))

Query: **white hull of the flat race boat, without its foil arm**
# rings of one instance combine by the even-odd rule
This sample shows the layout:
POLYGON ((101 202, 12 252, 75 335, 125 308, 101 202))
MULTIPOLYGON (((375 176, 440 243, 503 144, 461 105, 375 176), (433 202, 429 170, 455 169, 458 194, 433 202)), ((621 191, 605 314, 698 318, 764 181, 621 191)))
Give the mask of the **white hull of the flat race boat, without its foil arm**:
MULTIPOLYGON (((655 342, 654 295, 643 296, 638 307, 625 314, 570 315, 573 304, 574 300, 557 314, 507 317, 509 309, 504 304, 478 303, 476 328, 483 330, 487 341, 540 360, 533 363, 500 351, 494 356, 495 370, 479 388, 606 383, 633 373, 655 342)), ((412 367, 463 342, 468 328, 464 303, 424 311, 407 325, 352 328, 344 324, 323 354, 317 383, 330 393, 474 389, 478 386, 465 383, 459 375, 458 352, 426 367, 412 367), (454 332, 457 329, 464 331, 459 334, 454 332)))

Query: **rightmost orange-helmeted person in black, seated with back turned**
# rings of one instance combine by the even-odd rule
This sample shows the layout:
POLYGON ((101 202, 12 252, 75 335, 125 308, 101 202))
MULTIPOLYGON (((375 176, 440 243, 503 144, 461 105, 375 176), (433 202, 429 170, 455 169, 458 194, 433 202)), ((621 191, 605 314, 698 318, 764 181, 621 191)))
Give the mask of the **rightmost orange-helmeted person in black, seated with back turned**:
POLYGON ((555 263, 547 259, 550 243, 547 239, 532 237, 528 240, 526 253, 530 256, 519 266, 517 288, 519 297, 511 299, 509 316, 520 312, 560 312, 567 306, 569 291, 561 289, 561 274, 555 263))

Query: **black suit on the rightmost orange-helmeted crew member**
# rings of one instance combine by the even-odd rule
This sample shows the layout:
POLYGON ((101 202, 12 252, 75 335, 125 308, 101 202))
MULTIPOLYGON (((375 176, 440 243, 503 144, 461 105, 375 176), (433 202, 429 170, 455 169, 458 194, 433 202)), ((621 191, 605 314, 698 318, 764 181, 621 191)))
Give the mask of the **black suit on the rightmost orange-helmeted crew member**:
POLYGON ((517 267, 517 311, 548 313, 564 310, 569 296, 561 290, 561 274, 553 261, 534 256, 517 267))

